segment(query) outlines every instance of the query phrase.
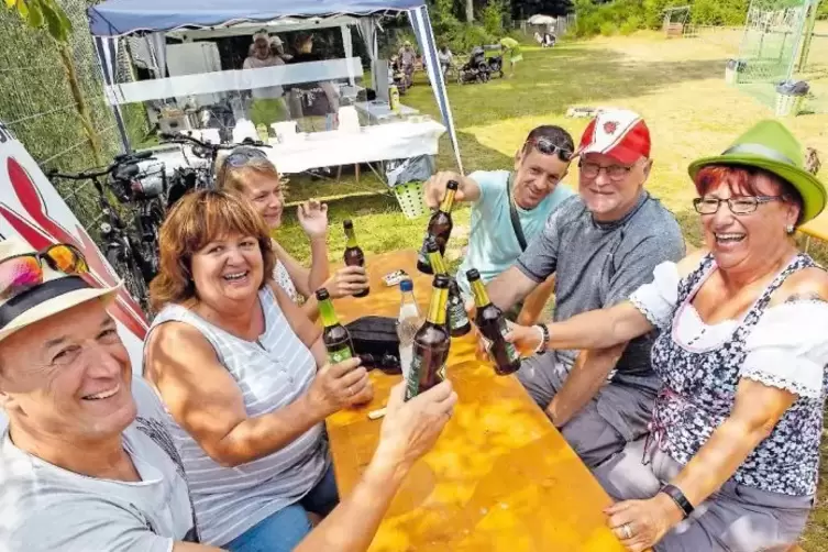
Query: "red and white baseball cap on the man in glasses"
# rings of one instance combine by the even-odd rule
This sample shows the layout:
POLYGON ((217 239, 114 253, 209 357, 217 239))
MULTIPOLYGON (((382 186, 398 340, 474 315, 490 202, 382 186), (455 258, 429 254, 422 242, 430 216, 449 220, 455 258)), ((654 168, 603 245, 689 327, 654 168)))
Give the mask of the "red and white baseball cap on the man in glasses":
POLYGON ((577 155, 603 153, 632 165, 650 157, 650 129, 641 115, 625 109, 600 111, 581 137, 577 155))

